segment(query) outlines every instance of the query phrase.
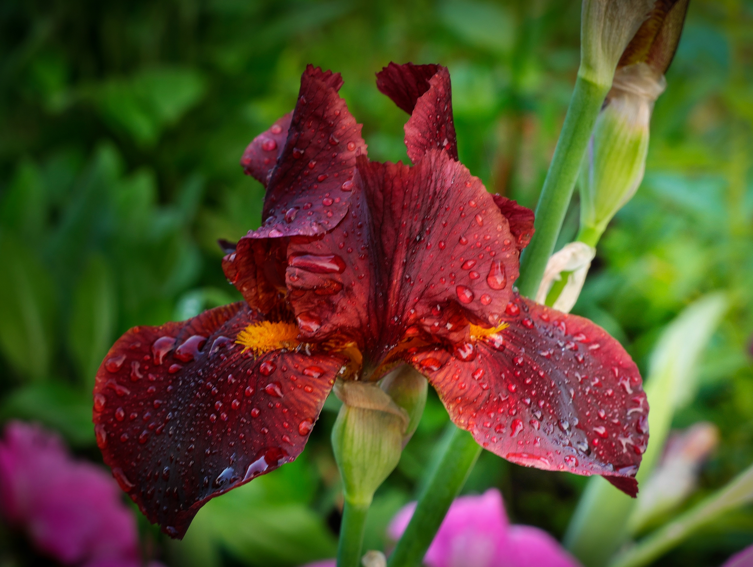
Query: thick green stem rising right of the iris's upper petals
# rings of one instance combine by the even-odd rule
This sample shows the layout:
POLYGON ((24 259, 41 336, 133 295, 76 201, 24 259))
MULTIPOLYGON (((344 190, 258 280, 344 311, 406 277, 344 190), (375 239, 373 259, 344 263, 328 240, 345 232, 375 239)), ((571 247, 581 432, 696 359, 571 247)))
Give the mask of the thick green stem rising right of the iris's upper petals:
POLYGON ((608 91, 609 85, 599 85, 580 76, 575 81, 565 123, 536 206, 536 232, 520 257, 520 277, 516 285, 523 296, 534 297, 538 291, 547 260, 562 228, 593 126, 608 91))

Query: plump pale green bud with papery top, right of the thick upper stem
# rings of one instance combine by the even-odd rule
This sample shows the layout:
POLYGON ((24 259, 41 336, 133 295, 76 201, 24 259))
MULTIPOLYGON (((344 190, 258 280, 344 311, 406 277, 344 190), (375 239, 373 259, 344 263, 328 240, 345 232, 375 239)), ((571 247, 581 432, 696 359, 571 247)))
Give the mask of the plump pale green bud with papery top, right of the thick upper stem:
POLYGON ((594 246, 614 214, 643 180, 648 153, 648 126, 664 78, 645 63, 614 74, 605 107, 596 120, 581 166, 581 235, 594 246))

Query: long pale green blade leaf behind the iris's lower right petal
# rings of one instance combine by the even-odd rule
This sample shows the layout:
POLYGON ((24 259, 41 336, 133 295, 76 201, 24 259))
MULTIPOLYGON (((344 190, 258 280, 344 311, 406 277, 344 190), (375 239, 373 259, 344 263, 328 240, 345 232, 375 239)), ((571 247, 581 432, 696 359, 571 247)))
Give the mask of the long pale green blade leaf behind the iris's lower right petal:
MULTIPOLYGON (((639 483, 648 478, 663 451, 675 410, 694 396, 700 356, 726 310, 722 293, 704 296, 669 324, 654 347, 645 386, 651 437, 639 483)), ((635 502, 603 478, 592 478, 570 521, 566 547, 586 567, 602 567, 630 536, 635 502)))

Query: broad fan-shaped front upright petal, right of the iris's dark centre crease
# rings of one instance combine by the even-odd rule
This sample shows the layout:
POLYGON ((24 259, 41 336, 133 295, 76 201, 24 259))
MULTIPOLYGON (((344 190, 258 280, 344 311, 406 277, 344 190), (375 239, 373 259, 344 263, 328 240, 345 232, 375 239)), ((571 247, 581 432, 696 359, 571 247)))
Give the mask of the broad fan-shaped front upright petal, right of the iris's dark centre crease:
POLYGON ((410 168, 359 168, 381 247, 387 320, 440 336, 453 330, 447 323, 454 311, 497 322, 511 298, 519 252, 480 180, 439 150, 410 168))

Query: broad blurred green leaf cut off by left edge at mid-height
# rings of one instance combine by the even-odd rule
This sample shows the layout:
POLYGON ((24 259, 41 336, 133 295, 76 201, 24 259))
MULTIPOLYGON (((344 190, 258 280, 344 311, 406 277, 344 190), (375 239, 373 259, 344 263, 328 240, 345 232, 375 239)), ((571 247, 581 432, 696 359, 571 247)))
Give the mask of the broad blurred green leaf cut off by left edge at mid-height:
POLYGON ((30 250, 0 233, 0 350, 26 378, 50 371, 56 294, 50 275, 30 250))

